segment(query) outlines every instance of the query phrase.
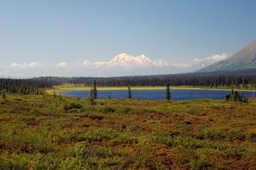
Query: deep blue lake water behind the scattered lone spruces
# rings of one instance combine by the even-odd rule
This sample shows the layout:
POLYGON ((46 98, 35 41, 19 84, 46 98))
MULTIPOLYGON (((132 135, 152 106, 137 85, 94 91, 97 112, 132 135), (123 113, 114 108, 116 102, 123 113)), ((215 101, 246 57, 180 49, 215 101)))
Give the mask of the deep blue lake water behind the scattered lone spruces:
MULTIPOLYGON (((183 101, 189 99, 225 99, 226 94, 230 94, 230 90, 170 90, 171 98, 174 101, 183 101)), ((88 97, 90 91, 62 91, 58 92, 71 97, 88 97)), ((253 92, 239 92, 246 97, 252 97, 253 92)), ((256 95, 256 93, 255 93, 256 95)), ((108 97, 124 99, 127 98, 127 90, 99 90, 98 98, 107 99, 108 97)), ((132 90, 133 99, 164 99, 165 90, 132 90)))

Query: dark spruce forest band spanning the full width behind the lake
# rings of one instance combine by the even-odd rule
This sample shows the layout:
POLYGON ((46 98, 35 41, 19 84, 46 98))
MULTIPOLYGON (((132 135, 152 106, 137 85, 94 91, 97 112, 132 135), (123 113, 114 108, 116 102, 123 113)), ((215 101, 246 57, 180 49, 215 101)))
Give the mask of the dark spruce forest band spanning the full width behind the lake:
POLYGON ((238 73, 190 73, 156 76, 123 76, 123 77, 39 77, 31 79, 0 79, 0 92, 13 94, 44 94, 44 89, 63 83, 92 86, 97 82, 99 87, 128 87, 128 86, 190 86, 190 87, 228 87, 228 88, 256 88, 255 72, 238 73))

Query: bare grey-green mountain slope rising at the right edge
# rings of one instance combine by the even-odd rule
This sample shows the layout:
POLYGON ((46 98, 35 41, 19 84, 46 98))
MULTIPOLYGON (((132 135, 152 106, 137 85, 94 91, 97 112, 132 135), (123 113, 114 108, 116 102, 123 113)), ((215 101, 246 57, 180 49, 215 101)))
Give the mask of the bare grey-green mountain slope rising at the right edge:
POLYGON ((225 60, 221 60, 195 72, 209 71, 232 71, 239 69, 255 69, 256 68, 256 40, 246 45, 239 52, 225 60))

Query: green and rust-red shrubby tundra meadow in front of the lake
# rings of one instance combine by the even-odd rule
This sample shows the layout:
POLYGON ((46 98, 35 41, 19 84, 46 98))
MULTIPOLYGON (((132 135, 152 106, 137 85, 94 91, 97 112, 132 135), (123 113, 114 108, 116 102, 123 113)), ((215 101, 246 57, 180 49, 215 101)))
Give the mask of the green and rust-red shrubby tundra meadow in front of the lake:
POLYGON ((0 99, 0 169, 256 169, 256 100, 0 99))

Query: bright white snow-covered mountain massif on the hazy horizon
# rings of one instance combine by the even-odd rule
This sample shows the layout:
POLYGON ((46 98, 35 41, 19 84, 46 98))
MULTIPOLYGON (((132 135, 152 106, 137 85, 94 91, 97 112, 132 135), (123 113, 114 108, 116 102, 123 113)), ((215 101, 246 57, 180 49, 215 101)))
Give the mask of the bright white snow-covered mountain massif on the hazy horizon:
POLYGON ((116 55, 113 59, 104 62, 90 62, 88 60, 84 60, 83 66, 91 66, 91 67, 102 67, 102 66, 108 66, 108 67, 122 67, 124 69, 132 69, 133 67, 150 67, 150 66, 156 66, 156 67, 164 67, 168 66, 168 63, 165 60, 161 59, 150 59, 146 57, 145 55, 139 55, 139 56, 132 56, 128 55, 127 53, 121 53, 119 55, 116 55))

